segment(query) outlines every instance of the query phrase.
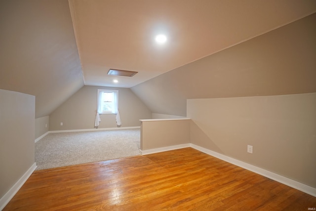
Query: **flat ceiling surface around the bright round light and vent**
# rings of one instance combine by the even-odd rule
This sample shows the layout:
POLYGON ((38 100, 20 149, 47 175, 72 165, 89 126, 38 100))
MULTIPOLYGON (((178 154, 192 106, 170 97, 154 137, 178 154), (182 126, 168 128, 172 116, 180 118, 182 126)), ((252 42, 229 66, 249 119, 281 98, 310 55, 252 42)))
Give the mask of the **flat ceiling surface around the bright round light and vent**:
POLYGON ((118 87, 135 86, 316 12, 316 0, 69 0, 69 4, 84 84, 118 87), (167 42, 155 43, 157 34, 165 34, 167 42), (110 68, 138 74, 108 76, 110 68))

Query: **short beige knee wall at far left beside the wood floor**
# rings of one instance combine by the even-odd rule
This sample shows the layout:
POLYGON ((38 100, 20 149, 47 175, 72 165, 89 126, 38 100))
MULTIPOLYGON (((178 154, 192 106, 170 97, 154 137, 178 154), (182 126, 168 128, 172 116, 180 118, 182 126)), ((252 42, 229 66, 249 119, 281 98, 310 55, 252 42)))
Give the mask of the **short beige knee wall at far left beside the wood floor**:
POLYGON ((35 96, 0 89, 0 198, 31 168, 35 96))

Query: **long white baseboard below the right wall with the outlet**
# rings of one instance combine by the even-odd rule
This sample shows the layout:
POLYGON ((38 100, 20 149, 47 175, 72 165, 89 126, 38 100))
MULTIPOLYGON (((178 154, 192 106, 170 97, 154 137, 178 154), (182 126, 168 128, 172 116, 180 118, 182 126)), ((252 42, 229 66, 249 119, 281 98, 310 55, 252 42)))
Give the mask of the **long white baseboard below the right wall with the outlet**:
POLYGON ((191 147, 196 149, 196 150, 198 150, 198 151, 200 151, 200 152, 206 153, 206 154, 211 155, 211 156, 213 156, 215 158, 218 158, 218 159, 221 159, 221 160, 226 161, 228 163, 234 164, 234 165, 236 165, 238 167, 241 167, 243 169, 247 169, 247 170, 250 170, 252 172, 258 173, 258 174, 260 174, 262 176, 268 177, 268 178, 273 179, 273 180, 275 180, 277 182, 280 182, 280 183, 282 183, 284 185, 287 185, 289 187, 295 188, 297 190, 300 190, 300 191, 302 191, 304 193, 307 193, 309 195, 312 195, 312 196, 316 197, 316 188, 313 188, 311 186, 305 185, 305 184, 300 183, 298 181, 295 181, 293 179, 289 179, 287 177, 281 176, 281 175, 276 174, 274 172, 271 172, 271 171, 268 171, 268 170, 265 170, 265 169, 261 169, 259 167, 256 167, 256 166, 253 166, 253 165, 250 165, 250 164, 247 164, 247 163, 244 163, 242 161, 239 161, 239 160, 236 160, 234 158, 228 157, 226 155, 214 152, 212 150, 209 150, 209 149, 197 146, 195 144, 191 144, 191 147))

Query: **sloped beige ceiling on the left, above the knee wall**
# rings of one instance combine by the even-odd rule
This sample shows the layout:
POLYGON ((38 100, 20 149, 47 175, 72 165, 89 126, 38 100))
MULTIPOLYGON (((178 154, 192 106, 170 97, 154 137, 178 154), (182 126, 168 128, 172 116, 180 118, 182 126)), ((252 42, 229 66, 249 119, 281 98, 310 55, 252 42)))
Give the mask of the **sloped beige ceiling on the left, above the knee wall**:
POLYGON ((0 88, 36 96, 49 115, 83 84, 67 0, 0 1, 0 88))

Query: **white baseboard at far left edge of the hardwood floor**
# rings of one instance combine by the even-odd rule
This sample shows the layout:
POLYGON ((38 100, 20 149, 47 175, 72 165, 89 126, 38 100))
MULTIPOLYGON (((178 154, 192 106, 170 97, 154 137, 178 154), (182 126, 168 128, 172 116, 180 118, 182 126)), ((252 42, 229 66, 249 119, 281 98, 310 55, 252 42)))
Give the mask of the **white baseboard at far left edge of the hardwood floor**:
POLYGON ((22 185, 26 182, 26 180, 31 176, 31 174, 37 168, 36 163, 34 163, 30 169, 28 169, 23 176, 4 194, 4 196, 0 199, 0 211, 10 202, 13 196, 20 190, 22 185))

